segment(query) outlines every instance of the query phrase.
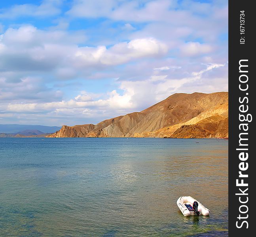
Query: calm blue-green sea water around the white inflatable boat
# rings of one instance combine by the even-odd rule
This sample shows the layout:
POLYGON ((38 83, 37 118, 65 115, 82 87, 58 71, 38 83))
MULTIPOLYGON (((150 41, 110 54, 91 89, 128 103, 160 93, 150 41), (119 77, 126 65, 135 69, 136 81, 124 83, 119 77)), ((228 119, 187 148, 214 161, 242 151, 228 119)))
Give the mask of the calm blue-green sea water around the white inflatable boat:
POLYGON ((0 235, 228 236, 228 141, 1 138, 0 235))

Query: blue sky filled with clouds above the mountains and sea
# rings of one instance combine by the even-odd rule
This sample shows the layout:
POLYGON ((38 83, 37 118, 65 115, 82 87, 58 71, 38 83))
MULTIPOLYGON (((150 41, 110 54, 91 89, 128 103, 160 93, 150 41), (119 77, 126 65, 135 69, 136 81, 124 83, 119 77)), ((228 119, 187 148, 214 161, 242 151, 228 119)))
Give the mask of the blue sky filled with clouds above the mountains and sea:
POLYGON ((228 0, 0 2, 0 124, 97 124, 228 91, 228 0))

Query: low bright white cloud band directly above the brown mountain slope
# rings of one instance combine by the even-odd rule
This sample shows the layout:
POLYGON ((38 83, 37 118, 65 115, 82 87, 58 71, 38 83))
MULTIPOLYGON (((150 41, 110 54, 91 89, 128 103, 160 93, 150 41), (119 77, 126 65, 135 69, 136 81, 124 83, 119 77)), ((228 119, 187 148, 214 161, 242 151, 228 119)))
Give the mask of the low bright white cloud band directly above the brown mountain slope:
MULTIPOLYGON (((226 64, 225 64, 226 65, 226 64)), ((136 109, 142 110, 146 107, 159 102, 170 96, 175 92, 190 93, 191 88, 186 88, 186 84, 193 83, 198 84, 198 92, 215 92, 223 89, 223 85, 219 88, 214 88, 205 82, 200 86, 201 80, 203 79, 203 73, 211 72, 218 68, 223 68, 224 64, 209 64, 206 65, 204 70, 193 72, 188 77, 182 79, 169 79, 167 75, 152 76, 144 81, 121 81, 119 88, 123 91, 123 94, 118 93, 116 90, 112 90, 108 93, 108 98, 98 99, 97 94, 88 93, 81 91, 78 96, 72 100, 62 100, 48 103, 9 103, 5 109, 8 113, 36 113, 36 112, 51 112, 56 111, 57 113, 68 112, 72 109, 81 109, 80 112, 88 112, 91 114, 97 114, 99 110, 123 111, 124 113, 132 112, 136 109), (206 85, 208 84, 208 88, 206 85), (184 89, 185 88, 185 89, 184 89), (200 89, 203 88, 203 89, 200 89)), ((220 74, 222 71, 220 71, 220 74)), ((209 77, 209 75, 208 75, 209 77)), ((217 76, 218 77, 218 76, 217 76)), ((210 80, 218 80, 216 78, 216 72, 213 77, 210 76, 210 80)), ((227 83, 226 83, 227 85, 227 83)), ((225 87, 226 87, 225 85, 225 87)))

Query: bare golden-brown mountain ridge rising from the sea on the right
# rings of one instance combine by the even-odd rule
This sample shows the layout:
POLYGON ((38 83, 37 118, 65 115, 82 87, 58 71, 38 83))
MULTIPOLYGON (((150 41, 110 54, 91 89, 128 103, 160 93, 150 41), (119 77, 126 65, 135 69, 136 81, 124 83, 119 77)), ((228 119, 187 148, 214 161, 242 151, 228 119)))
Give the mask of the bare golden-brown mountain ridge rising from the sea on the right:
POLYGON ((177 93, 141 112, 96 125, 64 125, 47 137, 227 138, 228 92, 177 93))

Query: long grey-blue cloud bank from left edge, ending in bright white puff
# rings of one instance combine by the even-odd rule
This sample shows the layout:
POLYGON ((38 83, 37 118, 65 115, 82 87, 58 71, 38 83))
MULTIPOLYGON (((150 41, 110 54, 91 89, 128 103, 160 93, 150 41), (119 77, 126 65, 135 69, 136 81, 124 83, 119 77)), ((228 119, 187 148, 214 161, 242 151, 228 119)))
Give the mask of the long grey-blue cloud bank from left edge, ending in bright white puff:
POLYGON ((78 47, 82 32, 43 31, 34 26, 9 28, 0 38, 0 65, 10 70, 57 70, 71 77, 71 68, 118 65, 130 60, 167 53, 167 46, 154 38, 121 42, 108 48, 78 47), (63 40, 64 39, 64 40, 63 40), (71 67, 71 68, 70 68, 71 67), (69 68, 69 69, 68 69, 69 68))

